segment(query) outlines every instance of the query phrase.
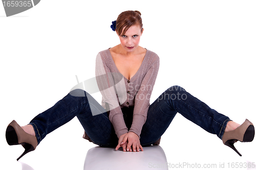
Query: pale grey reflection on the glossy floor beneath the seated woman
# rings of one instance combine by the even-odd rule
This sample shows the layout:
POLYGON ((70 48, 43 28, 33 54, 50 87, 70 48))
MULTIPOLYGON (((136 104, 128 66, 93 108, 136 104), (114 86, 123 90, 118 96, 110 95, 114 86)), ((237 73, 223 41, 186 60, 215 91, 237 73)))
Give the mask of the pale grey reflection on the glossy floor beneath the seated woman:
POLYGON ((143 147, 143 152, 123 152, 122 148, 91 148, 84 161, 84 170, 99 169, 168 169, 163 149, 159 145, 143 147))

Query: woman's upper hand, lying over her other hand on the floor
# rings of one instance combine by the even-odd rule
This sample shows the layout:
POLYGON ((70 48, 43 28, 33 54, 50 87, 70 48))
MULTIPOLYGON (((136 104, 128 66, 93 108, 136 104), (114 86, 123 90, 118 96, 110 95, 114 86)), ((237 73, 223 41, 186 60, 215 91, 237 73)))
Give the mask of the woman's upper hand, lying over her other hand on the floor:
POLYGON ((130 152, 132 151, 139 152, 140 150, 143 151, 143 148, 140 145, 139 136, 136 133, 133 133, 133 132, 127 133, 124 136, 122 143, 125 143, 126 141, 128 141, 126 151, 130 151, 130 152))

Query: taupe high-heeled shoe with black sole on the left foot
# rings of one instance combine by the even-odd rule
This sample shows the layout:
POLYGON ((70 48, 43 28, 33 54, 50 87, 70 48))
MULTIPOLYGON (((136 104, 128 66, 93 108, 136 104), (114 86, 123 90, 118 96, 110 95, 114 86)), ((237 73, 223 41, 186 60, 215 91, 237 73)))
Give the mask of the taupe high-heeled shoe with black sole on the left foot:
POLYGON ((13 120, 6 129, 6 141, 9 145, 21 144, 25 151, 17 161, 25 154, 34 151, 37 147, 37 139, 35 136, 26 133, 22 127, 20 127, 15 120, 13 120))

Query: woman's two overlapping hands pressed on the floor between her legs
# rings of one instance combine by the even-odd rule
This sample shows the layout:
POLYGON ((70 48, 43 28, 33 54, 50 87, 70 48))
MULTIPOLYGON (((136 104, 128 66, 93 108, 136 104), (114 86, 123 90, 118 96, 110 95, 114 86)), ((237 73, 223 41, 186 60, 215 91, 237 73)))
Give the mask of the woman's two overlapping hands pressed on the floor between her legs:
POLYGON ((124 152, 125 151, 139 152, 140 150, 143 151, 143 148, 140 145, 139 136, 133 132, 125 133, 119 137, 116 150, 118 150, 120 147, 123 148, 124 152))

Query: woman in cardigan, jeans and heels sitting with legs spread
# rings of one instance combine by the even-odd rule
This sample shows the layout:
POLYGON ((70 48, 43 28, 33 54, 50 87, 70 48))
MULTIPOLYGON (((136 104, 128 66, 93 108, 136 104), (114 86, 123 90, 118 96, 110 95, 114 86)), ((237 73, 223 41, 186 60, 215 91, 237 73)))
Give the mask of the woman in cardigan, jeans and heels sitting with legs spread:
MULTIPOLYGON (((252 141, 254 127, 249 120, 240 126, 179 86, 165 90, 150 105, 150 96, 159 69, 159 57, 139 46, 143 25, 139 11, 122 12, 112 22, 120 44, 96 57, 96 80, 102 105, 84 90, 75 89, 53 107, 38 114, 29 125, 15 120, 6 130, 8 144, 22 144, 26 153, 35 150, 47 134, 75 116, 84 128, 84 138, 101 147, 122 147, 123 151, 143 151, 159 144, 177 112, 222 139, 225 145, 252 141)), ((17 159, 17 160, 18 160, 17 159)))

